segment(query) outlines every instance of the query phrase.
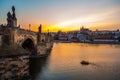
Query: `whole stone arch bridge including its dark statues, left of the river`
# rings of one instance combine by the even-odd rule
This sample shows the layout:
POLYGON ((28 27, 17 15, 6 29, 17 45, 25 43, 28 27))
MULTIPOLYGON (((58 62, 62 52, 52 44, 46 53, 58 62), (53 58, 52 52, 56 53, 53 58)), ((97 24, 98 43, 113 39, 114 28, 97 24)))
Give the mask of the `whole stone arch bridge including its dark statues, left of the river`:
MULTIPOLYGON (((21 29, 17 26, 17 18, 15 14, 15 7, 12 7, 12 14, 7 14, 7 25, 0 25, 0 34, 2 34, 2 44, 13 45, 24 48, 25 50, 36 53, 40 52, 41 46, 39 43, 48 43, 50 37, 41 33, 42 26, 38 27, 38 32, 21 29), (47 40, 47 41, 46 41, 47 40)), ((47 45, 47 44, 46 44, 47 45)))

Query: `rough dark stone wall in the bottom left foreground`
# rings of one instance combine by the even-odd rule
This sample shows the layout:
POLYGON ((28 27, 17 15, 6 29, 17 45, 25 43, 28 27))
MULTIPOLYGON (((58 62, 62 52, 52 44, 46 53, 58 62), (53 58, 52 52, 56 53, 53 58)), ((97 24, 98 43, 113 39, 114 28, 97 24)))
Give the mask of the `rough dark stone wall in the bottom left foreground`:
POLYGON ((28 80, 29 55, 0 56, 0 80, 28 80))

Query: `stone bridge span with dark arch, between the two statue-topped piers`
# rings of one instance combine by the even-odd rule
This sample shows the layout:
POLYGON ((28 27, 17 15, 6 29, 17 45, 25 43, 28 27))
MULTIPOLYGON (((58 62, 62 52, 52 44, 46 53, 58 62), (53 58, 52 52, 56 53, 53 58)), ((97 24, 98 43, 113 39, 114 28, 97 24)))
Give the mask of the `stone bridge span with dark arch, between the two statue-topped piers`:
POLYGON ((37 42, 38 35, 35 32, 22 29, 14 31, 14 44, 19 45, 32 53, 35 52, 37 42))

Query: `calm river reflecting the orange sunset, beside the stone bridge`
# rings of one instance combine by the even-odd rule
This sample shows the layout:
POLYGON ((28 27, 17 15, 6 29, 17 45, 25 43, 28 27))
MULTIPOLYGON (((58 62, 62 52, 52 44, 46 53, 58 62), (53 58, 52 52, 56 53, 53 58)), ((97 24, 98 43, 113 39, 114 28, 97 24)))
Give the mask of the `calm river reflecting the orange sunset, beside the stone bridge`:
POLYGON ((120 80, 120 45, 54 43, 48 57, 31 61, 30 74, 32 80, 120 80))

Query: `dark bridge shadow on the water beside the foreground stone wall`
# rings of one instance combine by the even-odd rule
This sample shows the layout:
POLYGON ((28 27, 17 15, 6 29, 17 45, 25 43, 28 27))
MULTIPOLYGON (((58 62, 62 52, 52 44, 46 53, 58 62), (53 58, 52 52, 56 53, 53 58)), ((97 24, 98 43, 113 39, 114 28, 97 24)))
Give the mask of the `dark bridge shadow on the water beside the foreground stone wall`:
POLYGON ((43 68, 47 66, 47 59, 48 57, 30 59, 30 75, 32 80, 36 80, 37 76, 42 74, 43 68))

